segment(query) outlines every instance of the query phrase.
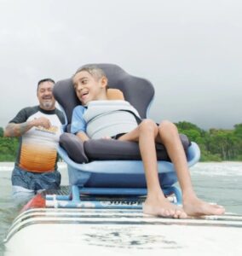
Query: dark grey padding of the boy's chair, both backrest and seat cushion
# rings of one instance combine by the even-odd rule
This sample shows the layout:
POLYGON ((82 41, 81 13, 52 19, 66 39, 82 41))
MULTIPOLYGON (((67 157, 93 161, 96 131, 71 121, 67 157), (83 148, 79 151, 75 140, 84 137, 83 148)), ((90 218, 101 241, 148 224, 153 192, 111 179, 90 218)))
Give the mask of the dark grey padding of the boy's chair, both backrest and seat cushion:
MULTIPOLYGON (((147 118, 147 109, 154 96, 153 84, 147 79, 137 78, 126 73, 121 67, 114 64, 94 65, 101 67, 107 74, 108 86, 121 90, 124 99, 137 109, 141 118, 147 118)), ((65 148, 72 160, 77 163, 87 163, 93 160, 141 160, 137 143, 105 139, 89 140, 82 143, 78 137, 69 133, 73 108, 81 104, 73 89, 71 78, 55 84, 54 96, 66 113, 66 132, 60 136, 60 147, 65 148)), ((190 142, 185 135, 180 135, 180 137, 186 152, 190 142)), ((164 145, 157 144, 157 153, 158 160, 170 160, 164 145)))

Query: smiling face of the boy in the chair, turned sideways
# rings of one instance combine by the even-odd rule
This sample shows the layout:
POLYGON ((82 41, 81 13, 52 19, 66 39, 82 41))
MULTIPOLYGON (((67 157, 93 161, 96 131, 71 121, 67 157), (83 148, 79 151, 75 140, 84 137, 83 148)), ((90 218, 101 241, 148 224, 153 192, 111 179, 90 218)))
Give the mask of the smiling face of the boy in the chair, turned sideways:
POLYGON ((76 73, 72 79, 76 94, 80 102, 86 105, 90 101, 103 100, 107 98, 107 78, 96 79, 90 73, 81 71, 76 73))

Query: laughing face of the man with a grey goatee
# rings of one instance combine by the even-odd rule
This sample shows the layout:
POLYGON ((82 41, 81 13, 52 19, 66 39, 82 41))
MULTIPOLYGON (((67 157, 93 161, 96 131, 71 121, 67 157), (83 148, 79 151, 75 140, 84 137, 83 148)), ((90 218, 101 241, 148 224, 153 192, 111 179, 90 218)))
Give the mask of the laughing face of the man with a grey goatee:
POLYGON ((54 84, 52 82, 43 82, 38 85, 37 89, 37 99, 40 108, 44 110, 55 109, 55 98, 52 94, 54 84))

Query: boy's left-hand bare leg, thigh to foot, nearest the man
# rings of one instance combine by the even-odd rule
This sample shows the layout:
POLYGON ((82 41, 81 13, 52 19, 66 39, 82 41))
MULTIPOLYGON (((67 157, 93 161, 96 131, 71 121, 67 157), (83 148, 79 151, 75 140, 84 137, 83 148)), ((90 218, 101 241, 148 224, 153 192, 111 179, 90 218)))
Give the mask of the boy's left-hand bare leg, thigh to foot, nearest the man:
POLYGON ((146 119, 134 131, 119 137, 118 140, 139 142, 147 179, 147 200, 144 203, 143 211, 148 214, 164 217, 186 218, 187 214, 179 207, 171 204, 164 197, 160 188, 155 149, 155 137, 157 135, 158 126, 152 120, 146 119))

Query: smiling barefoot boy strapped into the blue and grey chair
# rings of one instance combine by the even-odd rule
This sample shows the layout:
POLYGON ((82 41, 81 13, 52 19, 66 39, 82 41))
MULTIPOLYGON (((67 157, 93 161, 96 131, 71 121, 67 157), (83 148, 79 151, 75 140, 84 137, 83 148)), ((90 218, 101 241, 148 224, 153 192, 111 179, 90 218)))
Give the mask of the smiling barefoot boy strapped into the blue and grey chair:
MULTIPOLYGON (((89 132, 89 114, 86 105, 95 101, 107 101, 107 77, 105 73, 95 66, 85 66, 77 71, 72 78, 76 94, 82 106, 74 108, 72 114, 72 133, 76 134, 83 142, 92 138, 95 132, 89 132)), ((127 104, 126 104, 127 105, 127 104)), ((129 105, 129 103, 128 103, 129 105)), ((110 116, 110 123, 106 123, 107 128, 103 129, 102 137, 115 137, 120 141, 133 141, 139 143, 141 158, 143 161, 145 175, 147 180, 147 199, 143 205, 143 212, 152 215, 158 215, 171 218, 187 218, 187 216, 202 215, 220 215, 224 213, 224 208, 217 205, 210 205, 205 201, 199 200, 195 194, 191 182, 190 173, 187 168, 187 159, 180 141, 176 126, 170 121, 163 121, 156 125, 151 119, 141 120, 137 125, 135 116, 137 115, 132 106, 126 106, 129 111, 123 111, 124 116, 120 116, 123 125, 123 131, 113 134, 113 118, 115 114, 121 114, 123 108, 118 108, 111 112, 99 114, 101 116, 110 116), (125 114, 124 114, 125 112, 125 114), (129 119, 126 122, 126 119, 129 119), (125 120, 125 122, 124 122, 125 120), (108 125, 110 127, 108 127, 108 125), (106 129, 106 130, 105 130, 106 129), (168 201, 158 182, 158 166, 155 143, 163 143, 173 162, 178 181, 182 189, 182 207, 177 207, 168 201)), ((126 108, 125 107, 125 108, 126 108)), ((89 107, 88 107, 89 108, 89 107)), ((109 120, 109 119, 107 119, 109 120)), ((96 125, 95 125, 96 126, 96 125)), ((116 125, 119 127, 119 125, 116 125)), ((100 127, 94 127, 98 130, 100 127)), ((98 137, 95 137, 98 138, 98 137)))

